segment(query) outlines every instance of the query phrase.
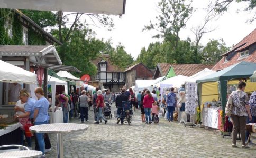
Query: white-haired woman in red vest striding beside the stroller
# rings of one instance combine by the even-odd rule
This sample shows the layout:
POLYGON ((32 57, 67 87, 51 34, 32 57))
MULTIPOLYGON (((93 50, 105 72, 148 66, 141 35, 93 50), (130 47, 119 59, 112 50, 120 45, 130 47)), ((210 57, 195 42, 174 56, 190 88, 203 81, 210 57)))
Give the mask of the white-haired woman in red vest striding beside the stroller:
POLYGON ((96 111, 98 111, 97 115, 97 121, 95 122, 96 124, 99 124, 99 119, 102 118, 105 121, 105 124, 107 123, 106 118, 102 116, 102 108, 104 107, 104 98, 102 95, 102 91, 98 90, 97 91, 97 100, 96 100, 96 111))

